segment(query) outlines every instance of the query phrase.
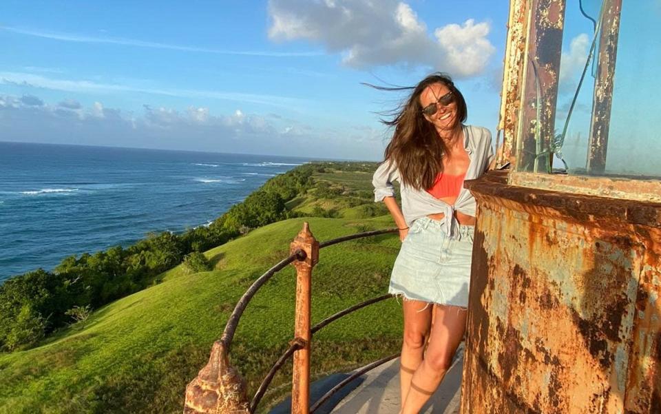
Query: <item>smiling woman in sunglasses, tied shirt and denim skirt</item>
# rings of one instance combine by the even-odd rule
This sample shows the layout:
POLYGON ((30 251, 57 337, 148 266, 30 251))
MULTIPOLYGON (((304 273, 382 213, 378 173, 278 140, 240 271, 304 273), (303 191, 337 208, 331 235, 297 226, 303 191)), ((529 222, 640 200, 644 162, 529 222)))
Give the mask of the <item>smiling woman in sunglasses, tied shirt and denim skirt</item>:
POLYGON ((373 178, 375 200, 386 203, 402 241, 388 291, 403 297, 403 414, 419 412, 463 338, 475 224, 463 180, 481 176, 493 158, 490 132, 463 125, 466 103, 449 76, 432 74, 408 89, 406 103, 384 121, 395 134, 373 178))

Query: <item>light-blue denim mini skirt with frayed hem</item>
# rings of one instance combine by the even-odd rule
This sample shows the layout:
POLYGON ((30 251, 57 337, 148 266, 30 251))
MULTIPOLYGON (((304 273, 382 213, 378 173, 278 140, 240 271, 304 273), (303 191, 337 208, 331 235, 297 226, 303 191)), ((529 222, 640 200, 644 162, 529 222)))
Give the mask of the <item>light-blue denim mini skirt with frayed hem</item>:
POLYGON ((422 217, 411 225, 392 267, 388 293, 409 300, 468 307, 474 226, 454 238, 442 221, 422 217))

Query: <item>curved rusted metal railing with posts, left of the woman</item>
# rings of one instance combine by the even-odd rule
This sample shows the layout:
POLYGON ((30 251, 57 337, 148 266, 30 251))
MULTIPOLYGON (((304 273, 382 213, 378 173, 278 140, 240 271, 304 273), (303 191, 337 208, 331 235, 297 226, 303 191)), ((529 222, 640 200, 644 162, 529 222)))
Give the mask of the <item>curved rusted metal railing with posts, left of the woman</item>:
POLYGON ((310 344, 313 335, 326 327, 331 322, 342 318, 358 309, 369 306, 382 300, 391 298, 390 295, 379 296, 355 304, 352 307, 344 309, 330 315, 314 327, 311 327, 311 278, 313 267, 319 261, 319 249, 336 245, 348 240, 356 240, 381 234, 394 234, 397 229, 383 229, 375 231, 365 231, 350 236, 344 236, 319 243, 310 231, 307 222, 303 229, 291 243, 291 254, 267 270, 260 278, 255 280, 251 287, 237 302, 234 311, 231 313, 220 340, 214 342, 211 349, 209 363, 198 374, 186 388, 186 402, 184 406, 185 414, 210 414, 210 413, 232 413, 232 414, 253 414, 257 410, 266 389, 273 380, 275 373, 282 366, 293 358, 292 375, 292 393, 291 393, 291 413, 292 414, 310 414, 322 406, 328 398, 333 396, 343 386, 363 375, 381 364, 397 358, 399 354, 390 355, 381 360, 372 362, 364 368, 353 373, 345 380, 337 384, 333 389, 322 396, 319 401, 310 406, 310 344), (255 293, 268 282, 277 271, 284 269, 289 264, 296 268, 296 313, 294 339, 289 343, 288 348, 271 366, 271 369, 262 380, 262 383, 255 392, 251 402, 248 402, 246 396, 246 384, 238 371, 229 364, 229 350, 238 326, 239 320, 243 315, 250 300, 255 293))

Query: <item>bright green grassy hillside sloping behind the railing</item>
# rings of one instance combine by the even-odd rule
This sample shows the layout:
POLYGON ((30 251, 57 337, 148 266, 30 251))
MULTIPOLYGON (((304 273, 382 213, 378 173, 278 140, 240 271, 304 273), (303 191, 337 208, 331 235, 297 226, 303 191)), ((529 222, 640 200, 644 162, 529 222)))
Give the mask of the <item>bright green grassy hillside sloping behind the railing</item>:
MULTIPOLYGON (((180 412, 185 385, 205 364, 236 300, 288 255, 304 220, 319 240, 392 226, 383 207, 366 198, 371 197, 365 194, 370 176, 360 168, 319 172, 315 182, 328 184, 315 186, 288 207, 336 218, 295 218, 253 230, 205 253, 213 271, 186 274, 177 267, 160 284, 94 312, 84 329, 70 327, 34 349, 0 355, 0 413, 180 412)), ((395 236, 379 236, 323 249, 313 273, 313 323, 383 294, 398 248, 395 236)), ((293 267, 278 273, 239 324, 231 361, 251 393, 291 340, 294 275, 293 267)), ((313 342, 313 375, 397 351, 400 329, 394 300, 331 324, 313 342)), ((289 375, 288 367, 267 398, 286 393, 289 375)))

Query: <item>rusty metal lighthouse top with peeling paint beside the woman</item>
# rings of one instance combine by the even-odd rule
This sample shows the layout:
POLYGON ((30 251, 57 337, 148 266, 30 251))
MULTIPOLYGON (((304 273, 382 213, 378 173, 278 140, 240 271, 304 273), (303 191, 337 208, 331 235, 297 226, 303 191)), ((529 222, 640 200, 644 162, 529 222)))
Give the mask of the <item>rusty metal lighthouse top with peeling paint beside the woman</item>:
POLYGON ((661 94, 649 71, 619 61, 625 51, 641 65, 660 56, 658 25, 641 23, 658 4, 593 3, 580 80, 591 110, 583 104, 571 123, 579 93, 560 91, 561 64, 579 1, 510 3, 499 165, 511 167, 468 183, 478 221, 465 414, 661 413, 661 162, 623 143, 640 123, 649 127, 636 127, 636 142, 658 140, 661 110, 613 110, 647 101, 625 94, 661 94), (644 36, 650 30, 656 37, 644 36), (571 131, 579 137, 573 148, 571 131), (585 163, 567 166, 563 150, 585 163))

